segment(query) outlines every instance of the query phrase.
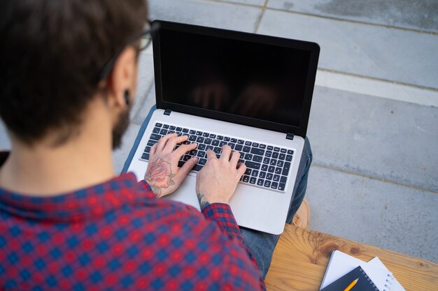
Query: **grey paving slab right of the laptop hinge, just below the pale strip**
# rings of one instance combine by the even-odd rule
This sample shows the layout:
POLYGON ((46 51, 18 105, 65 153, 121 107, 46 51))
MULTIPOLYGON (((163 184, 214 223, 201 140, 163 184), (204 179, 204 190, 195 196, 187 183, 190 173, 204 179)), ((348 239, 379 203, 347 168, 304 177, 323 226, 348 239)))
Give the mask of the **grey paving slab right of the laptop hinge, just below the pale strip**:
POLYGON ((438 108, 315 87, 314 162, 438 193, 438 108))

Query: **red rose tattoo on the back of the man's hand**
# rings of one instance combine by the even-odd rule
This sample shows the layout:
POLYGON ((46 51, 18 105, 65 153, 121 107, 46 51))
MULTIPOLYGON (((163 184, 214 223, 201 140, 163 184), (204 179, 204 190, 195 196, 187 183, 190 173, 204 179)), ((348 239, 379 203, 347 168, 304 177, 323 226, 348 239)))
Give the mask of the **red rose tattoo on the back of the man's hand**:
POLYGON ((145 174, 145 180, 155 195, 161 197, 163 188, 175 185, 174 180, 172 180, 174 176, 175 174, 172 174, 171 164, 162 158, 157 158, 157 160, 149 165, 148 171, 145 174))

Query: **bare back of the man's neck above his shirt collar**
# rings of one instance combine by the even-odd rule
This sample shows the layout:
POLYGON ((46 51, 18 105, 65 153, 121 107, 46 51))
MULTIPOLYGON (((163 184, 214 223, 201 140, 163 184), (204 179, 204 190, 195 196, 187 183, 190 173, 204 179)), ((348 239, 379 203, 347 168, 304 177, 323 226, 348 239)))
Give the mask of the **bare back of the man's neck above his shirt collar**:
MULTIPOLYGON (((102 121, 102 120, 100 120, 102 121)), ((23 195, 59 195, 114 177, 111 125, 94 119, 59 147, 41 142, 32 147, 11 138, 12 151, 0 168, 0 186, 23 195)))

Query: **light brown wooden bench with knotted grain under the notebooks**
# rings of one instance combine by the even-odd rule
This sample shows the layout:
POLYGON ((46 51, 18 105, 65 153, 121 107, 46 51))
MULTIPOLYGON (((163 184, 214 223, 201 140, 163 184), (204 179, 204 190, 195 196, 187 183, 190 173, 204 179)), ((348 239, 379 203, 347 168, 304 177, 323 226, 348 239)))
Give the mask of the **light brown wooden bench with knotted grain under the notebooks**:
MULTIPOLYGON (((437 242, 438 243, 438 242, 437 242)), ((286 225, 266 277, 268 290, 319 290, 332 251, 379 257, 407 291, 438 290, 438 264, 330 234, 286 225)))

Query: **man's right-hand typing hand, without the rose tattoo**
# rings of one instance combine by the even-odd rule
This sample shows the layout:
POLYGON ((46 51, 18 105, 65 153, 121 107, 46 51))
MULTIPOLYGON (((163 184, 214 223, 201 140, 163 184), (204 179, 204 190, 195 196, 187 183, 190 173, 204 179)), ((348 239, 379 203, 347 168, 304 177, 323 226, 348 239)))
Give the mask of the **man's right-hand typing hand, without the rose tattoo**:
POLYGON ((237 163, 239 157, 239 152, 231 151, 229 145, 222 147, 220 158, 216 158, 214 151, 207 151, 207 163, 198 172, 196 180, 201 207, 210 203, 229 203, 240 177, 246 171, 245 164, 237 163))

